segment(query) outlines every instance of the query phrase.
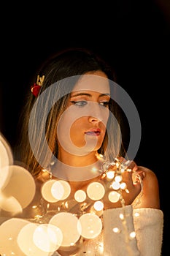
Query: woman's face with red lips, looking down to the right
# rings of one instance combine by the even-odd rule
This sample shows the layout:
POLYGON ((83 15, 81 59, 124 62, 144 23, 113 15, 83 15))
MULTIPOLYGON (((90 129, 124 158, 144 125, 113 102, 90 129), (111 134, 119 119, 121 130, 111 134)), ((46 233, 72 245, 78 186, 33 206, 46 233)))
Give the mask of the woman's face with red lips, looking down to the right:
POLYGON ((109 99, 109 80, 104 72, 82 75, 58 124, 58 140, 66 151, 82 156, 101 147, 109 117, 109 99))

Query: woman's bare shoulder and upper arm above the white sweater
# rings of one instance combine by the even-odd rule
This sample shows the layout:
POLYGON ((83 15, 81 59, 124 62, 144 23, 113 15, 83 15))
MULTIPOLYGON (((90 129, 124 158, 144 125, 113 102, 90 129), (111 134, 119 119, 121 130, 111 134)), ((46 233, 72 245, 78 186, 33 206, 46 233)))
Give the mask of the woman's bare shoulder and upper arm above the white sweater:
POLYGON ((147 167, 138 166, 138 170, 143 173, 143 195, 140 207, 160 208, 157 176, 147 167))

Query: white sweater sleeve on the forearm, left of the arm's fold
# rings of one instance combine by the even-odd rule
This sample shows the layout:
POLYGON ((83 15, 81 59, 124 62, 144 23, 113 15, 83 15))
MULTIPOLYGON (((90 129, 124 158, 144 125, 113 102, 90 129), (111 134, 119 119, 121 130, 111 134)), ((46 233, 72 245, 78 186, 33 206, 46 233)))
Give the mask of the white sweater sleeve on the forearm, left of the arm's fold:
MULTIPOLYGON (((140 256, 134 232, 132 206, 111 208, 104 211, 104 255, 140 256)), ((151 255, 150 255, 151 256, 151 255)))

